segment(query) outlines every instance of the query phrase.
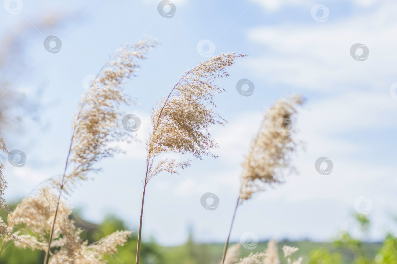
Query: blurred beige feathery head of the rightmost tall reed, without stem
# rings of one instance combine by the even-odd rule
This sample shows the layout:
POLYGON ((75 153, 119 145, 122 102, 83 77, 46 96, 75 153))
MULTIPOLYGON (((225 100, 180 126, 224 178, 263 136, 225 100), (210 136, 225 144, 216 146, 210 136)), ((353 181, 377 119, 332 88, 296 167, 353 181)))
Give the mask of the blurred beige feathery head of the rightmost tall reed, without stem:
POLYGON ((289 131, 290 119, 296 105, 302 104, 300 95, 281 98, 266 112, 258 134, 252 140, 249 154, 243 163, 240 199, 264 189, 264 184, 280 183, 286 168, 290 168, 290 154, 297 144, 289 131))

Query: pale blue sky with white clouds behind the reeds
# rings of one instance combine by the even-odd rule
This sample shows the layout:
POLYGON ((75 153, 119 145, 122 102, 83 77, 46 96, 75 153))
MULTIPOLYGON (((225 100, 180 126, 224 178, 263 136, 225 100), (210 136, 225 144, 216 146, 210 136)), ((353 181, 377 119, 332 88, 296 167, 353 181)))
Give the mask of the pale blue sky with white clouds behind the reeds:
POLYGON ((348 228, 356 210, 369 213, 370 239, 394 230, 390 215, 397 198, 397 96, 392 86, 397 82, 397 3, 178 0, 172 18, 160 16, 158 4, 41 0, 23 1, 18 14, 0 10, 1 36, 22 36, 24 55, 16 73, 3 78, 10 89, 27 96, 45 88, 39 123, 26 119, 24 132, 4 131, 9 148, 27 155, 24 167, 6 163, 8 200, 22 198, 46 178, 62 173, 84 78, 95 75, 118 47, 148 35, 161 44, 128 83, 128 93, 138 98, 139 105, 125 109, 140 117, 136 136, 142 142, 123 145, 126 154, 101 162, 103 171, 66 197, 84 217, 99 222, 111 212, 136 228, 150 110, 185 70, 206 59, 201 56, 206 47, 198 44, 208 40, 215 54, 248 55, 229 69, 229 79, 219 82, 226 93, 216 96, 218 110, 229 121, 211 130, 220 144, 219 159, 194 161, 180 175, 162 174, 150 182, 144 237, 154 237, 163 245, 180 244, 192 225, 197 240, 223 242, 238 193, 240 164, 262 114, 279 97, 293 93, 307 99, 294 128, 306 149, 294 160, 299 173, 246 202, 239 209, 232 240, 252 232, 259 239, 325 241, 348 228), (319 10, 317 17, 312 16, 316 4, 323 4, 329 15, 324 17, 326 13, 319 10), (63 19, 56 27, 40 27, 50 14, 63 19), (318 21, 321 18, 323 22, 318 21), (27 33, 19 35, 21 25, 27 33), (49 35, 61 39, 59 53, 44 49, 49 35), (356 43, 368 47, 366 60, 351 56, 356 43), (242 78, 255 85, 249 97, 236 90, 242 78), (329 175, 319 174, 314 166, 323 156, 334 164, 329 175), (206 192, 219 197, 216 210, 201 206, 206 192))

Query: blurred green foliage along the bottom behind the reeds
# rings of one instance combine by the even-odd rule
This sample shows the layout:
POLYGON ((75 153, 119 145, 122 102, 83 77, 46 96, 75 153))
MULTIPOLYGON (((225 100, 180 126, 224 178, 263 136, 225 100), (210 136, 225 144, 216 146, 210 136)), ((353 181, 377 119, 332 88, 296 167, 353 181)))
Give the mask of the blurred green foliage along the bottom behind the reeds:
MULTIPOLYGON (((12 206, 11 206, 12 207, 12 206)), ((1 217, 6 219, 6 213, 1 212, 1 217)), ((75 225, 83 232, 81 236, 92 243, 117 230, 127 230, 122 220, 113 215, 108 215, 100 224, 93 224, 79 217, 75 211, 73 220, 75 225)), ((356 226, 360 228, 363 236, 370 227, 370 221, 365 215, 355 215, 356 226)), ((134 233, 135 234, 135 233, 134 233)), ((135 263, 136 235, 118 248, 118 253, 107 256, 109 264, 135 263)), ((383 243, 368 243, 354 238, 349 232, 341 231, 337 238, 327 243, 283 240, 278 242, 279 255, 282 257, 282 246, 296 246, 299 251, 297 256, 304 257, 305 264, 397 264, 397 239, 388 234, 383 243)), ((264 251, 267 242, 259 242, 256 251, 264 251)), ((192 229, 189 231, 187 242, 181 246, 162 247, 154 239, 142 244, 142 264, 219 264, 223 252, 223 244, 196 243, 192 229)), ((251 251, 241 247, 242 257, 251 251)), ((4 245, 0 257, 0 264, 42 264, 44 252, 32 251, 30 249, 16 248, 13 243, 4 245)), ((281 258, 282 264, 283 258, 281 258)))

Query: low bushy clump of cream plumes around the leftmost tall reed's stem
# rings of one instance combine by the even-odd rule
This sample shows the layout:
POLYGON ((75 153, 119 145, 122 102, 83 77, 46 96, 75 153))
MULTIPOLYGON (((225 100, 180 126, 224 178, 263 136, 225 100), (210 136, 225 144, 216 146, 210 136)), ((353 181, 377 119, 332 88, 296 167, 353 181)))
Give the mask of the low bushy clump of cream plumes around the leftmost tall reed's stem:
MULTIPOLYGON (((15 224, 19 227, 15 235, 21 239, 14 242, 17 247, 47 250, 57 199, 55 193, 45 186, 37 195, 24 198, 15 208, 15 224)), ((130 231, 117 231, 88 245, 79 237, 81 230, 69 218, 71 213, 72 208, 61 200, 51 243, 51 248, 56 248, 50 255, 51 264, 105 263, 104 255, 115 253, 116 247, 124 245, 131 234, 130 231)))

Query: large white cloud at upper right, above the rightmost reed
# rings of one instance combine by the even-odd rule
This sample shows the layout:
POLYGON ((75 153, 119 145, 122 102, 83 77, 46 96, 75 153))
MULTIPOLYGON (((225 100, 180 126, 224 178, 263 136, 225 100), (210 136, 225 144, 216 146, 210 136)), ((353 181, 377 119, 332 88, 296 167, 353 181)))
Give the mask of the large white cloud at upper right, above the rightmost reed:
MULTIPOLYGON (((247 60, 256 74, 272 83, 323 93, 373 87, 389 88, 397 70, 395 43, 397 4, 380 6, 372 14, 360 14, 334 23, 264 26, 248 31, 248 39, 264 46, 264 54, 247 60), (350 55, 353 44, 369 48, 360 62, 350 55), (386 78, 386 80, 385 80, 386 78), (362 87, 358 87, 358 85, 362 87)), ((358 50, 360 52, 360 50, 358 50)))

